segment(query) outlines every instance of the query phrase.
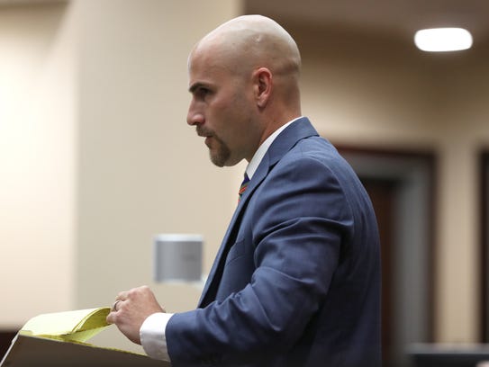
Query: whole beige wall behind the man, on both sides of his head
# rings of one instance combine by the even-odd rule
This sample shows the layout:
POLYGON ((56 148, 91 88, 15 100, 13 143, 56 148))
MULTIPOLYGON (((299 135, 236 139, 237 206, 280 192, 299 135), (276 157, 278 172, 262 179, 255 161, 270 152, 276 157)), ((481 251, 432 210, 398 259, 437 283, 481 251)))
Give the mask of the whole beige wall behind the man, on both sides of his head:
MULTIPOLYGON (((0 6, 0 279, 8 299, 0 327, 110 305, 140 284, 168 310, 195 306, 198 289, 151 281, 151 241, 203 234, 208 271, 231 218, 244 166, 213 167, 186 126, 186 57, 240 11, 238 0, 0 6)), ((388 39, 291 31, 303 49, 303 113, 323 135, 437 153, 436 336, 475 340, 475 158, 489 145, 487 55, 430 57, 388 39)))

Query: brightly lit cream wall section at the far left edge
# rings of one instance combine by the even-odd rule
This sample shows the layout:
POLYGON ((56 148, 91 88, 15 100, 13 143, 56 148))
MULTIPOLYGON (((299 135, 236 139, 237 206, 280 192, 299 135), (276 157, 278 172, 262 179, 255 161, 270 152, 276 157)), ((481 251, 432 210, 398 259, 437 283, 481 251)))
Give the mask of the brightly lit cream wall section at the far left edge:
POLYGON ((64 5, 0 6, 0 327, 69 309, 76 81, 64 5))

